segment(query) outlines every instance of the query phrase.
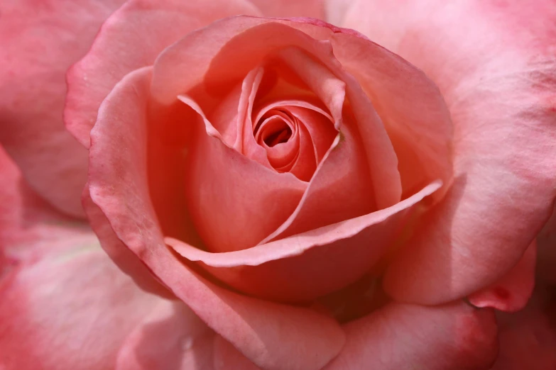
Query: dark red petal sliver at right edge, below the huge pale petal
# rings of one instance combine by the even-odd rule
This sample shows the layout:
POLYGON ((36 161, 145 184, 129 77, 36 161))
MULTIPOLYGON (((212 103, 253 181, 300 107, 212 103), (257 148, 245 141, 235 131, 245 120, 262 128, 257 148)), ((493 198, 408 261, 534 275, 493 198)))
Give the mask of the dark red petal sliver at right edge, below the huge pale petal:
POLYGON ((556 286, 556 207, 537 237, 537 273, 540 281, 556 286))

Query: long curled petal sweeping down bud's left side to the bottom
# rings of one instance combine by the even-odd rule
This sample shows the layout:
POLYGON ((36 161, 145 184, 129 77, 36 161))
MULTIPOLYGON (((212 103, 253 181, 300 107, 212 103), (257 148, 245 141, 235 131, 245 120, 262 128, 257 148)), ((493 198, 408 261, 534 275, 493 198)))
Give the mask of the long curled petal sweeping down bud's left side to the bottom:
POLYGON ((334 320, 305 308, 260 301, 220 288, 192 272, 164 245, 149 200, 143 160, 147 128, 141 108, 147 103, 150 74, 150 69, 129 74, 111 91, 99 111, 91 133, 92 201, 109 220, 114 236, 212 330, 257 366, 322 368, 344 342, 334 320), (114 109, 118 114, 113 113, 114 109))

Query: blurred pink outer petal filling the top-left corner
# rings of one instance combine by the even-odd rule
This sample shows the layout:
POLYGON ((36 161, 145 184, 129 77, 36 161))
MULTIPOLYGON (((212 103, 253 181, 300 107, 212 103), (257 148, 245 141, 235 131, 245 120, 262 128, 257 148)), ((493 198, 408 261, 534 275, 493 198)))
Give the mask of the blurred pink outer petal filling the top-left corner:
POLYGON ((0 5, 0 142, 49 203, 83 216, 87 151, 65 131, 65 72, 124 0, 6 0, 0 5), (63 180, 62 180, 63 179, 63 180))

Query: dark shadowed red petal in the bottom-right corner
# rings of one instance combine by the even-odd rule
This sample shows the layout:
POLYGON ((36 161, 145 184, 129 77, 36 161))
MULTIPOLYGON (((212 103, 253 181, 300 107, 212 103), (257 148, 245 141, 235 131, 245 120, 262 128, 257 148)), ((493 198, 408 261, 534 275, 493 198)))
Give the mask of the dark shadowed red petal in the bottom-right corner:
POLYGON ((500 353, 491 370, 556 369, 556 291, 538 286, 525 310, 498 315, 500 353))

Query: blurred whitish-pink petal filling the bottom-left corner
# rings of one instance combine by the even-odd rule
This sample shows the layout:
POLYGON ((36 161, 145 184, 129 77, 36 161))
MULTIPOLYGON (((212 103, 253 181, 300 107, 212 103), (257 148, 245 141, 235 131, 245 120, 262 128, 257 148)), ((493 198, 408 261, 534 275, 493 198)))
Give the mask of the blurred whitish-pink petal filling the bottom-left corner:
POLYGON ((126 335, 160 298, 122 274, 92 232, 45 247, 37 262, 21 264, 0 281, 0 364, 110 368, 126 335))

